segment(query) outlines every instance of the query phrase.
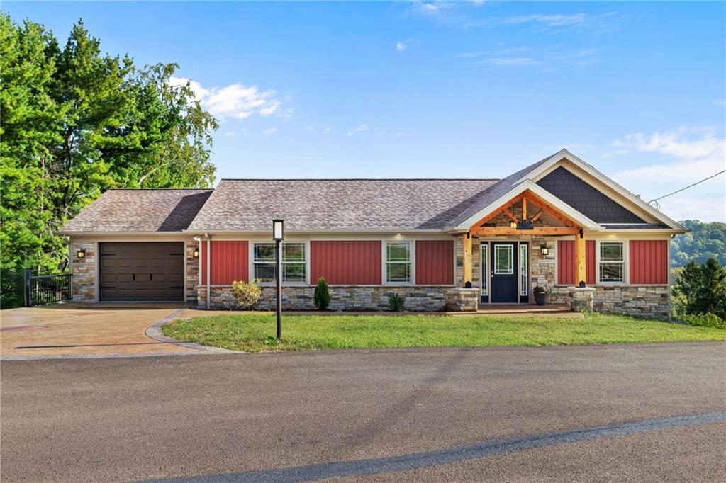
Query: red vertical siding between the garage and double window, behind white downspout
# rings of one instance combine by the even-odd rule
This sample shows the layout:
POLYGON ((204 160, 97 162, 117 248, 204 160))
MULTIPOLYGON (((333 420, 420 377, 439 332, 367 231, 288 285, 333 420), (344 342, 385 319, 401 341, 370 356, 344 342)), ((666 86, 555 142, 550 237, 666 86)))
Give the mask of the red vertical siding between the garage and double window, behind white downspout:
MULTIPOLYGON (((212 285, 231 285, 233 281, 248 281, 249 251, 247 241, 212 241, 211 280, 212 285)), ((207 283, 207 242, 202 242, 200 254, 202 284, 207 283)))

